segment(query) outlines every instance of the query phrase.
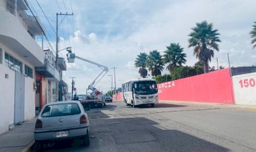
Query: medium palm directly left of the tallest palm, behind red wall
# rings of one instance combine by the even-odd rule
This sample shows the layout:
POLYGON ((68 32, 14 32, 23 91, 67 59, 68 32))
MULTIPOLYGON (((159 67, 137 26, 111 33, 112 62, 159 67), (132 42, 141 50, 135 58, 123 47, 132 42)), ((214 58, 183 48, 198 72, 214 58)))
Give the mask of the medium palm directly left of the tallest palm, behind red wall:
POLYGON ((186 63, 186 59, 185 57, 187 57, 187 55, 185 53, 183 53, 183 49, 181 48, 181 46, 175 43, 171 43, 170 46, 166 46, 167 50, 164 51, 164 58, 163 61, 164 63, 170 63, 166 69, 168 69, 168 71, 170 71, 170 73, 172 72, 172 69, 174 69, 174 67, 181 67, 182 64, 186 63))

